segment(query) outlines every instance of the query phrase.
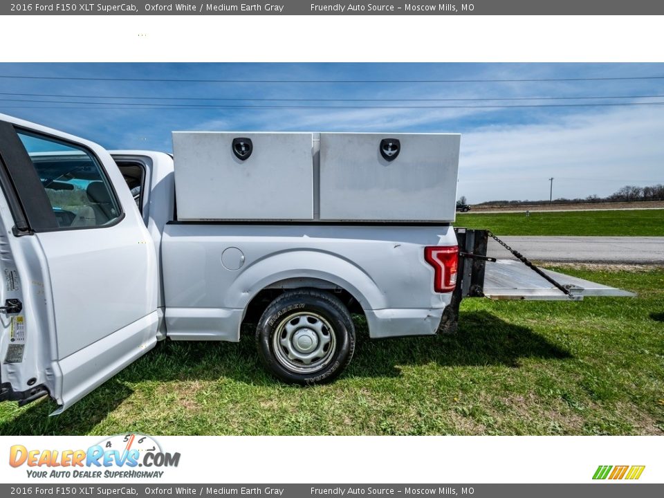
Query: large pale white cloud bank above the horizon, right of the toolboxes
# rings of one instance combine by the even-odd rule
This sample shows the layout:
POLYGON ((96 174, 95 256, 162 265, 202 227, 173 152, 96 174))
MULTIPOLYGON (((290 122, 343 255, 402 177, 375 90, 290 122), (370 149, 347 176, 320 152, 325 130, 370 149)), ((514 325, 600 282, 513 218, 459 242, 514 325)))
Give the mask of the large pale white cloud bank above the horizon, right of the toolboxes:
POLYGON ((469 201, 605 196, 664 183, 664 108, 625 107, 485 127, 461 138, 459 195, 469 201))

